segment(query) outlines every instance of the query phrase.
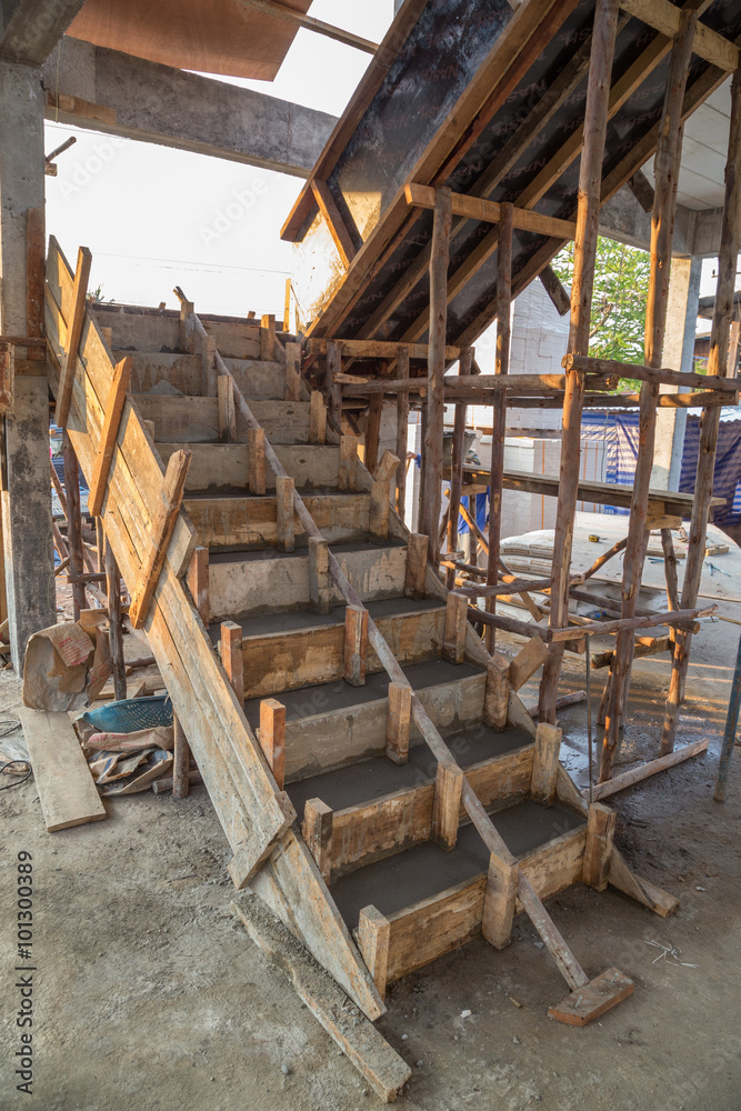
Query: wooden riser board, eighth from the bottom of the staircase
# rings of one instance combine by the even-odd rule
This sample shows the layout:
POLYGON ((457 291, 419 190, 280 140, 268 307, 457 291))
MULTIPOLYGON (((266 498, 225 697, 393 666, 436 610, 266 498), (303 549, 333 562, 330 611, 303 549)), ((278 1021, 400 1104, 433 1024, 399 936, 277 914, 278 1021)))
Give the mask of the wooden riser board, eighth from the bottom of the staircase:
MULTIPOLYGON (((284 377, 282 370, 280 374, 284 377)), ((138 393, 134 400, 142 418, 154 421, 154 438, 160 443, 218 443, 221 438, 217 398, 138 393)), ((271 443, 309 442, 308 402, 250 399, 249 404, 271 443)), ((247 421, 239 410, 236 418, 234 439, 247 443, 247 421)))

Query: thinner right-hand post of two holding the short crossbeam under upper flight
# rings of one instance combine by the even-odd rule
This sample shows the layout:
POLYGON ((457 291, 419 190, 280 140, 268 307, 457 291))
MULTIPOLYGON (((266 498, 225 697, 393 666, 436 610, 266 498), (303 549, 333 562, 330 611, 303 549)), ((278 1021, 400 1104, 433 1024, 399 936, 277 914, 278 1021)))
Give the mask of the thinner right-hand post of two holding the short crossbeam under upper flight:
MULTIPOLYGON (((497 358, 494 372, 510 371, 510 316, 512 309, 512 206, 503 203, 497 249, 497 358)), ((489 477, 489 558, 487 582, 499 582, 499 549, 502 520, 502 489, 504 483, 504 439, 507 437, 507 393, 500 390, 491 407, 491 470, 489 477)), ((497 595, 487 599, 487 610, 497 611, 497 595)), ((492 653, 497 644, 497 630, 487 628, 487 648, 492 653)))

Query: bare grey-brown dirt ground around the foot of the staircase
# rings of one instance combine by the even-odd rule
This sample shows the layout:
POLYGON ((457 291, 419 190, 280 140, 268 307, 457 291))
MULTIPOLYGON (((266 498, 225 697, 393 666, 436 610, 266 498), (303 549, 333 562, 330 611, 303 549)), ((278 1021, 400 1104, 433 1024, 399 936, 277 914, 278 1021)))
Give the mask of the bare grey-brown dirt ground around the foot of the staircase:
MULTIPOLYGON (((738 749, 728 801, 712 800, 739 631, 711 624, 695 639, 680 739, 709 734, 709 752, 611 800, 620 848, 681 897, 677 915, 657 918, 611 889, 579 887, 549 903, 588 974, 617 965, 633 997, 583 1030, 549 1020, 565 984, 521 917, 509 949, 477 940, 391 987, 379 1027, 413 1067, 400 1107, 741 1108, 738 749), (653 942, 685 963, 661 959, 653 942)), ((570 659, 563 689, 577 690, 583 660, 570 659)), ((667 678, 665 657, 637 663, 619 770, 655 754, 667 678)), ((14 674, 0 673, 0 717, 19 704, 14 674)), ((584 707, 561 724, 583 783, 584 707)), ((0 1108, 379 1105, 230 913, 229 850, 206 790, 107 805, 106 822, 48 834, 32 781, 0 793, 0 1108), (13 1063, 19 852, 32 854, 34 875, 33 1103, 16 1090, 13 1063)))

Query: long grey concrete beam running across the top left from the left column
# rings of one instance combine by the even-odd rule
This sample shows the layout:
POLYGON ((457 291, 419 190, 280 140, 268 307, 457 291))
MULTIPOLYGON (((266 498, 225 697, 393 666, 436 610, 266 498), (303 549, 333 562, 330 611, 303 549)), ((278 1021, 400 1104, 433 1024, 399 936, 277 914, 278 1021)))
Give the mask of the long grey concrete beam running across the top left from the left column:
POLYGON ((251 89, 63 38, 47 117, 306 178, 336 119, 251 89), (59 110, 57 109, 59 93, 59 110))

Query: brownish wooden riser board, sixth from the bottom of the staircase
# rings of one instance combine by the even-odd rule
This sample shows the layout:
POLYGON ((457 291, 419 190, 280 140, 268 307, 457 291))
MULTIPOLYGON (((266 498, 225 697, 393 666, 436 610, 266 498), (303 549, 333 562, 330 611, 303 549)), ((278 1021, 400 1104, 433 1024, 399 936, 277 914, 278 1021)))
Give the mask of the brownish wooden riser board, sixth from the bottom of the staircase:
MULTIPOLYGON (((368 494, 308 494, 304 504, 330 543, 364 539, 368 534, 368 494)), ((206 548, 274 548, 278 543, 274 498, 198 498, 186 500, 186 511, 206 548)), ((297 543, 306 533, 294 520, 297 543)))

